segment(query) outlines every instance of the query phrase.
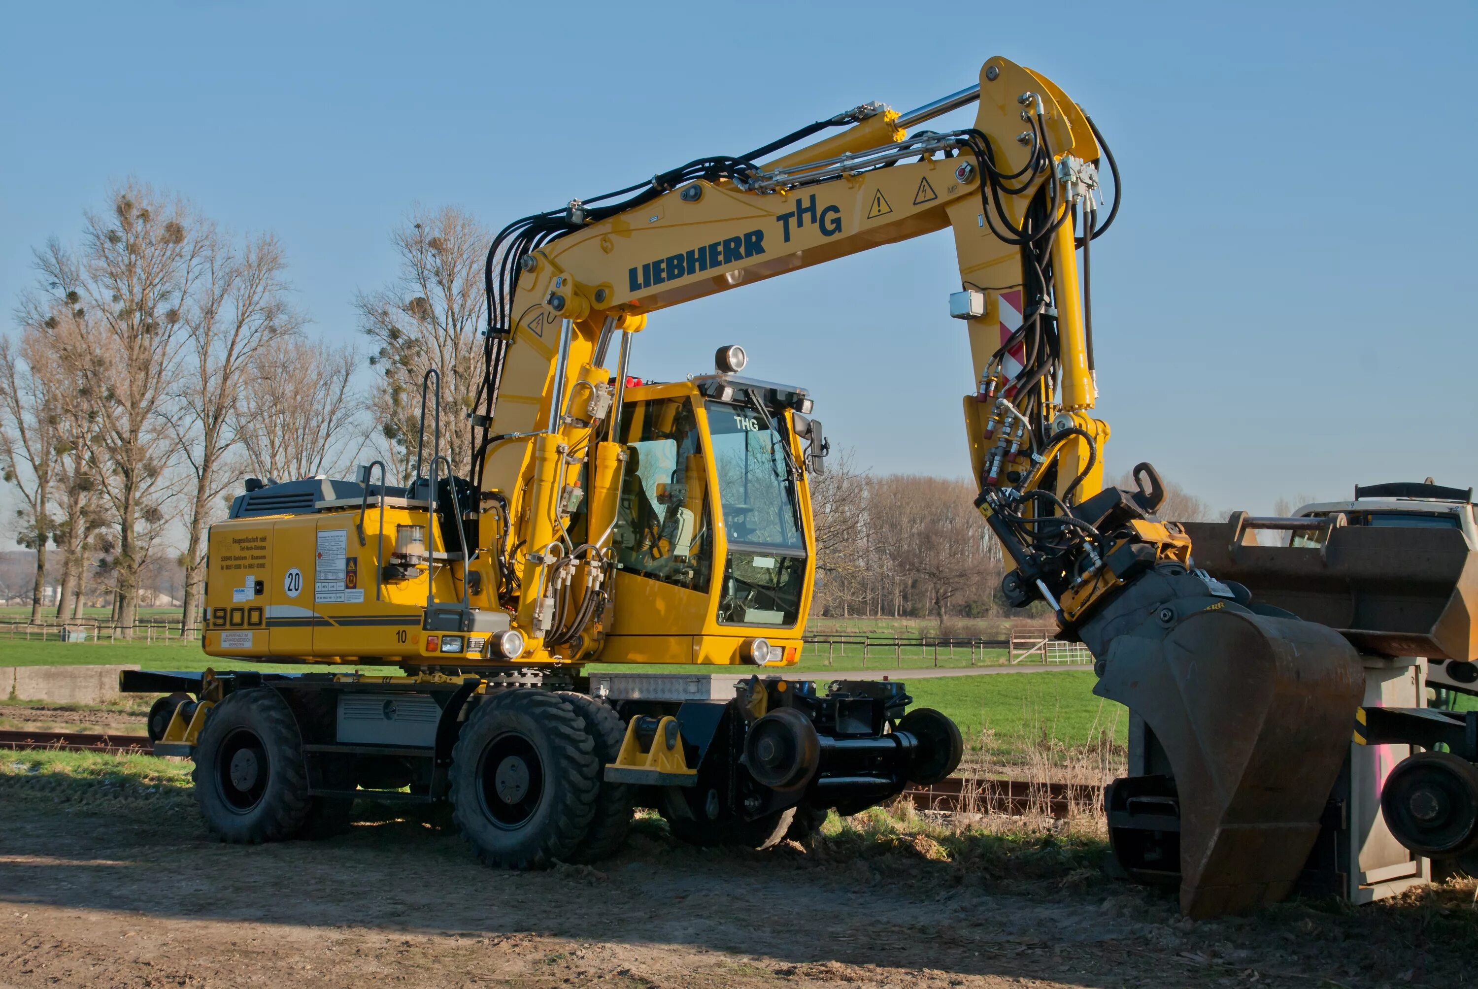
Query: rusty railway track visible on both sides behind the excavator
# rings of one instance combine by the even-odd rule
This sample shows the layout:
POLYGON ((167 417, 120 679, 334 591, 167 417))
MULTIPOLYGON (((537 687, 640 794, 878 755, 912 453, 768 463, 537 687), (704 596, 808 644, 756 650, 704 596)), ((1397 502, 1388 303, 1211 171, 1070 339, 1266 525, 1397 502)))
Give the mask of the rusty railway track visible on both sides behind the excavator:
MULTIPOLYGON (((0 730, 0 750, 50 750, 61 752, 109 752, 146 755, 152 744, 146 735, 89 735, 86 732, 0 730)), ((1101 786, 1083 784, 1036 784, 1024 779, 977 779, 950 776, 933 786, 903 791, 919 810, 949 813, 1029 815, 1067 818, 1075 810, 1094 807, 1103 800, 1101 786)))

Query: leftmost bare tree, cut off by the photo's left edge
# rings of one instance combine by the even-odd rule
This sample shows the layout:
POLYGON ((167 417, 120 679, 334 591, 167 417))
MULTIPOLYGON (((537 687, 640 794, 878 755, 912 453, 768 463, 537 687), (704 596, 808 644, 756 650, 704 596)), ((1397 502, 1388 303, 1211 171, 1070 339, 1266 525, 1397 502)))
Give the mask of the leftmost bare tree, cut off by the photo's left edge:
POLYGON ((55 526, 52 464, 61 421, 55 364, 55 353, 37 327, 28 327, 18 343, 0 339, 0 473, 21 494, 15 540, 35 551, 33 622, 41 621, 46 541, 55 526))

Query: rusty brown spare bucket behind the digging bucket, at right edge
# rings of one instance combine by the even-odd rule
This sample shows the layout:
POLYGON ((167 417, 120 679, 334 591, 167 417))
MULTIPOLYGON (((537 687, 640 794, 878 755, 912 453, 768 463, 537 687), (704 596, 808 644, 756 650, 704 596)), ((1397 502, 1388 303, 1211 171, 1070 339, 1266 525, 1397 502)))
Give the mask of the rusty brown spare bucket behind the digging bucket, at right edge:
POLYGON ((1196 566, 1382 656, 1478 658, 1478 553, 1460 529, 1329 526, 1320 546, 1258 546, 1296 519, 1187 522, 1196 566))

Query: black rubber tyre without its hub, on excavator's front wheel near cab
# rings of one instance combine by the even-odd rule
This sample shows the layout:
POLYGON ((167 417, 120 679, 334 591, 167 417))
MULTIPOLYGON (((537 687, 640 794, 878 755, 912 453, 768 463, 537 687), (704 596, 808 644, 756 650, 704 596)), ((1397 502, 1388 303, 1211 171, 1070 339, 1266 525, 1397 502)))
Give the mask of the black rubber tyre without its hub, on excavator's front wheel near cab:
POLYGON ((585 720, 563 698, 513 687, 483 701, 463 724, 452 750, 454 819, 483 865, 542 869, 569 860, 596 813, 600 764, 585 720), (542 794, 517 828, 501 828, 483 812, 479 763, 483 750, 508 732, 537 752, 542 794))

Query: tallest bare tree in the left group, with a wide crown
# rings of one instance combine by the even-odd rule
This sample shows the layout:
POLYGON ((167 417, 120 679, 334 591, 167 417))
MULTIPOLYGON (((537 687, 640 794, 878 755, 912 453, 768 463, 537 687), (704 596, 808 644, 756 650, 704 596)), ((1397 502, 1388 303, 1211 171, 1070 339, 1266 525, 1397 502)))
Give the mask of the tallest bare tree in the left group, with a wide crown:
POLYGON ((179 377, 182 310, 213 244, 214 231, 192 207, 130 180, 114 191, 106 213, 86 214, 75 254, 56 241, 37 254, 41 297, 74 306, 75 333, 55 336, 96 415, 90 442, 117 526, 108 569, 124 634, 137 616, 139 572, 170 494, 176 446, 160 411, 179 377))

